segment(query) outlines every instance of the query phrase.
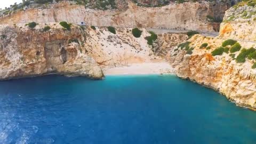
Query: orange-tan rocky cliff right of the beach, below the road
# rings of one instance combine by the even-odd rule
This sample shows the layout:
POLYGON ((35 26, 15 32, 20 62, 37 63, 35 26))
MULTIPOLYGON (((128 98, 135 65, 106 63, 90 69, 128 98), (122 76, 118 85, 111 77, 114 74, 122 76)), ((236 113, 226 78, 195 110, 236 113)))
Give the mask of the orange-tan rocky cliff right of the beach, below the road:
MULTIPOLYGON (((189 39, 191 53, 188 48, 186 51, 186 48, 181 50, 180 47, 173 47, 168 59, 177 76, 211 87, 239 106, 256 109, 256 69, 252 68, 254 60, 246 59, 244 63, 238 63, 235 58, 239 51, 233 53, 234 58, 230 57, 229 51, 213 56, 211 52, 220 47, 223 41, 221 38, 196 35, 189 39), (207 49, 201 46, 203 43, 207 43, 207 49)), ((242 47, 255 45, 250 42, 239 43, 242 47)))

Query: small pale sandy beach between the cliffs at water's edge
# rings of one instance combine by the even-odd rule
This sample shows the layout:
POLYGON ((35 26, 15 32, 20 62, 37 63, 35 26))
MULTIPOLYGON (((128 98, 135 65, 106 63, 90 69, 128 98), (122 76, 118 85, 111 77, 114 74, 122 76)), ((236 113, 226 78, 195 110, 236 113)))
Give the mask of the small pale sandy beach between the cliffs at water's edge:
POLYGON ((130 66, 103 69, 105 75, 174 74, 167 62, 134 63, 130 66))

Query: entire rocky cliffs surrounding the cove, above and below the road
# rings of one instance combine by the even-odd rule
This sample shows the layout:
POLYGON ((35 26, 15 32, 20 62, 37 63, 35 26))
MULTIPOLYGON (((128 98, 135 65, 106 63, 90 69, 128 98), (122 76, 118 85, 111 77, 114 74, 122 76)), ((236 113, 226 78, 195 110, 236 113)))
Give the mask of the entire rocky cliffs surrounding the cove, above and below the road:
POLYGON ((211 87, 239 106, 255 109, 255 59, 249 59, 247 55, 243 62, 236 59, 242 48, 247 50, 255 46, 255 15, 251 6, 244 4, 227 11, 228 6, 221 9, 220 15, 223 11, 226 13, 222 15, 218 37, 165 33, 157 35, 153 43, 148 40, 153 34, 145 28, 209 33, 217 30, 213 22, 207 21, 207 15, 216 13, 209 5, 207 2, 188 2, 152 8, 128 2, 121 11, 85 9, 81 5, 61 2, 44 9, 13 12, 0 19, 0 77, 61 74, 100 79, 104 69, 164 62, 171 68, 166 67, 158 73, 175 73, 178 77, 211 87), (233 18, 231 15, 236 13, 240 16, 237 14, 233 18), (27 25, 32 21, 36 23, 34 28, 27 25), (61 21, 73 24, 66 29, 60 25, 61 21), (76 25, 81 21, 89 26, 76 25), (93 25, 96 27, 91 27, 93 25), (45 30, 47 26, 50 29, 45 30), (115 33, 107 26, 113 26, 115 33), (133 28, 129 27, 138 27, 141 35, 135 37, 133 28), (234 44, 223 46, 227 39, 235 39, 241 46, 239 50, 230 52, 234 44), (179 45, 184 42, 187 44, 179 45), (221 46, 225 52, 221 48, 222 53, 212 54, 221 46))

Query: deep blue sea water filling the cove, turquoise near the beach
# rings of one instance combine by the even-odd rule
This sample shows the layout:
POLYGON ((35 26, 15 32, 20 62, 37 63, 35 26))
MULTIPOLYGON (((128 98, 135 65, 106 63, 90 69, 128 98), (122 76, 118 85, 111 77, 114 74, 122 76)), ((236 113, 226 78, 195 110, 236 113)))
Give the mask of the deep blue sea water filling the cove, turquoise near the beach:
POLYGON ((175 76, 0 82, 0 143, 255 143, 256 112, 175 76))

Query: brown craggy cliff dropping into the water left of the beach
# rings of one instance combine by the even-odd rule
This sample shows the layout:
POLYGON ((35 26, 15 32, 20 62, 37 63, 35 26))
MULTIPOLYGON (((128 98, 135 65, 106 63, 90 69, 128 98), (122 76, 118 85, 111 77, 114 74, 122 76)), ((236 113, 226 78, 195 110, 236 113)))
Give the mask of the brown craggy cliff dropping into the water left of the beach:
POLYGON ((68 44, 68 39, 84 38, 79 29, 40 32, 18 25, 0 26, 0 31, 1 79, 50 73, 103 76, 97 62, 81 45, 68 44))

